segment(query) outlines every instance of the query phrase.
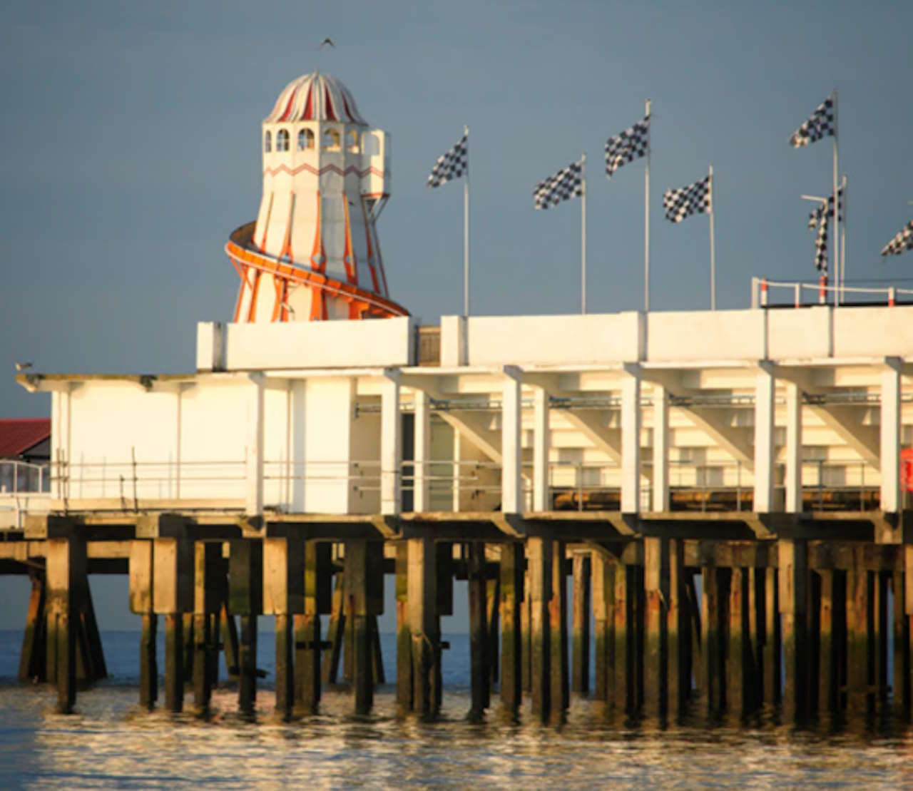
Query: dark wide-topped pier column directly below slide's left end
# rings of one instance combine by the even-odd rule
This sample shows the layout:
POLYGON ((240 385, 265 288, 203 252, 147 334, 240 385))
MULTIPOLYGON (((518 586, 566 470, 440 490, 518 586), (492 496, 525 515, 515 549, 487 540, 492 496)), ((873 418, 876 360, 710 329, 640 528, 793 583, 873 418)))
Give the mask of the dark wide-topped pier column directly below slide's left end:
POLYGON ((257 701, 257 616, 263 612, 263 543, 235 539, 228 556, 228 611, 241 617, 238 641, 238 707, 254 713, 257 701))

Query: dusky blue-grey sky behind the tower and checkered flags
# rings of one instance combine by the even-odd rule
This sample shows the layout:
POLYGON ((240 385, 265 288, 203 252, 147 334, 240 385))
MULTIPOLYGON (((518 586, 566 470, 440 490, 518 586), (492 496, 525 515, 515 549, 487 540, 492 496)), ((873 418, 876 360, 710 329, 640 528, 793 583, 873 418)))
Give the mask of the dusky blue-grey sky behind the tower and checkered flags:
MULTIPOLYGON (((260 121, 318 63, 393 135, 379 224, 391 294, 425 322, 462 309, 462 190, 431 191, 471 127, 474 313, 579 310, 580 206, 532 208, 586 152, 588 308, 643 307, 643 162, 611 182, 605 138, 653 100, 651 308, 708 306, 708 219, 662 193, 715 175, 718 304, 750 278, 813 280, 802 193, 831 146, 790 133, 840 92, 849 279, 908 279, 879 250, 913 217, 908 2, 87 2, 5 8, 0 415, 46 414, 16 359, 62 372, 188 371, 195 322, 226 320, 228 234, 260 197, 260 121)), ((906 283, 910 285, 910 283, 906 283)))

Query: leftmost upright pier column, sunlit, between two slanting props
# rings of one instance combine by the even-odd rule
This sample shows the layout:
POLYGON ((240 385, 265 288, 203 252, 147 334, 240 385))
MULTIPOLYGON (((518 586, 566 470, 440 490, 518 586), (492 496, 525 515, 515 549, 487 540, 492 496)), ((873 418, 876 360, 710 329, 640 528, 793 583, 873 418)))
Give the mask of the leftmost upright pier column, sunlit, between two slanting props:
POLYGON ((86 541, 75 529, 46 542, 47 678, 56 680, 58 712, 76 704, 79 612, 89 593, 86 541))

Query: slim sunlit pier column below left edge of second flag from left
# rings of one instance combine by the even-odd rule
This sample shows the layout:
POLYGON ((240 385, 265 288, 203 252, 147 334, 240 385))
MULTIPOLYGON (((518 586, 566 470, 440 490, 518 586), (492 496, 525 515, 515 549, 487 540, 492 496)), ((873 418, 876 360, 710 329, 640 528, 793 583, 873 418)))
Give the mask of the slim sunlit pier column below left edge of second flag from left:
POLYGON ((551 545, 541 538, 527 542, 530 572, 530 697, 532 714, 542 722, 551 712, 551 545))

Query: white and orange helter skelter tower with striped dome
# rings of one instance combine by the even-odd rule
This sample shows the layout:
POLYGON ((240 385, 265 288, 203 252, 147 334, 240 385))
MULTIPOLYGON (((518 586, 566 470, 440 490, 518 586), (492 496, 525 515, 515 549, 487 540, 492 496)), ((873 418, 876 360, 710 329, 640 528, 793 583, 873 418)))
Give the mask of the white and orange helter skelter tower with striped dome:
POLYGON ((263 198, 226 253, 241 278, 235 322, 408 315, 389 299, 377 218, 390 197, 390 135, 315 71, 263 121, 263 198))

